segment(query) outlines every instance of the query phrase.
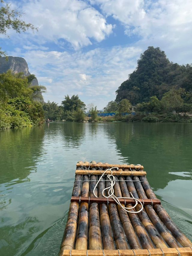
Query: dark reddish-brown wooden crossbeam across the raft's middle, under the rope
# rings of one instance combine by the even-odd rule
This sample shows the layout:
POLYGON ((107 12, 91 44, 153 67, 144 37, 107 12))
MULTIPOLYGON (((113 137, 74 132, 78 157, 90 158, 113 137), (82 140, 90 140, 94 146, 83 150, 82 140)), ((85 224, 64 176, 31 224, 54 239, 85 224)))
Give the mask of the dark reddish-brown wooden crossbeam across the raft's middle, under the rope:
MULTIPOLYGON (((114 203, 113 198, 105 198, 105 197, 71 197, 71 202, 86 202, 86 203, 114 203)), ((159 199, 139 199, 144 205, 146 204, 161 204, 159 199)), ((123 199, 119 198, 121 203, 135 203, 134 199, 123 199)))

